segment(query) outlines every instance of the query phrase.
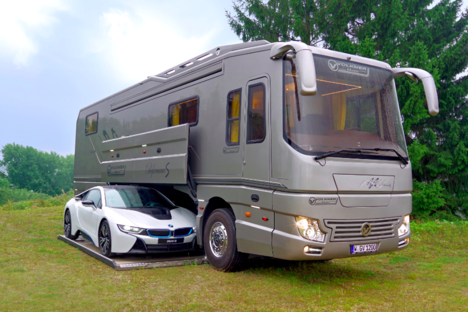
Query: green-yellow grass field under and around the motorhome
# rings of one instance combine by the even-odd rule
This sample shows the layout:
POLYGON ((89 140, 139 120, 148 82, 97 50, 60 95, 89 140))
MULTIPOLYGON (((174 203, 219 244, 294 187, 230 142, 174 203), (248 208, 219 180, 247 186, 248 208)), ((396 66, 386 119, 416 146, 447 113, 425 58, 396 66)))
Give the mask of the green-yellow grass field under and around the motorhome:
POLYGON ((0 208, 0 311, 468 311, 468 222, 411 227, 391 254, 115 271, 57 240, 61 206, 0 208))

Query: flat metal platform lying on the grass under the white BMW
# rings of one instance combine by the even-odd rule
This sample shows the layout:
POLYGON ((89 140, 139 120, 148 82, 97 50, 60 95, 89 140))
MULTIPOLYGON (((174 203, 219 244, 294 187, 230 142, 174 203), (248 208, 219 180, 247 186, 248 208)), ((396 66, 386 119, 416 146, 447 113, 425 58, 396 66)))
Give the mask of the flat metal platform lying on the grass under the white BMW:
POLYGON ((57 235, 57 239, 84 251, 98 260, 101 260, 116 271, 208 263, 204 252, 198 250, 171 253, 124 254, 115 258, 107 258, 102 255, 101 250, 98 247, 94 246, 93 243, 85 240, 81 236, 76 240, 71 240, 63 235, 57 235))

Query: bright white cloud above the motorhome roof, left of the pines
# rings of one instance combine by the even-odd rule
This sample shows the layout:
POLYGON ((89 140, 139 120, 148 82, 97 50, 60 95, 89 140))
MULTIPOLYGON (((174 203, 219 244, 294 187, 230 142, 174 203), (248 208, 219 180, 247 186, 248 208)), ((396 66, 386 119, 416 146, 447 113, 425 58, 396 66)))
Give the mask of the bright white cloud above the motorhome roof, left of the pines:
POLYGON ((156 75, 212 48, 210 42, 220 31, 202 31, 203 26, 182 20, 169 21, 147 7, 110 8, 101 16, 107 42, 101 53, 126 81, 135 83, 156 75), (177 24, 185 24, 190 31, 177 24))

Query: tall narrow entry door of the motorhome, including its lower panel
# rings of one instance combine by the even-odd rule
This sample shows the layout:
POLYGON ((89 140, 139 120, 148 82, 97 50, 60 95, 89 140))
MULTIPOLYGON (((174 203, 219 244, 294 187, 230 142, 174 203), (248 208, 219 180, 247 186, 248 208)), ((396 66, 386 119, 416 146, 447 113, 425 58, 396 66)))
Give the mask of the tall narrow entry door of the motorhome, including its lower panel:
POLYGON ((241 222, 238 249, 246 253, 272 256, 274 228, 273 190, 269 189, 269 81, 266 77, 247 83, 244 101, 244 184, 241 187, 241 222))

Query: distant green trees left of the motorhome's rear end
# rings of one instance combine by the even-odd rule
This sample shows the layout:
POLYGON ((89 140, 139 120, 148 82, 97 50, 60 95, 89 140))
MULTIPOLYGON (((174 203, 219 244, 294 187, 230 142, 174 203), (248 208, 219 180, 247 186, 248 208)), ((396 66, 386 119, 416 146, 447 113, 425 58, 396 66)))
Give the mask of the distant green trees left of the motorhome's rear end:
MULTIPOLYGON (((61 156, 15 143, 3 146, 1 152, 0 166, 6 168, 9 184, 15 188, 51 196, 73 188, 74 155, 61 156)), ((3 181, 2 185, 7 184, 3 181)))

